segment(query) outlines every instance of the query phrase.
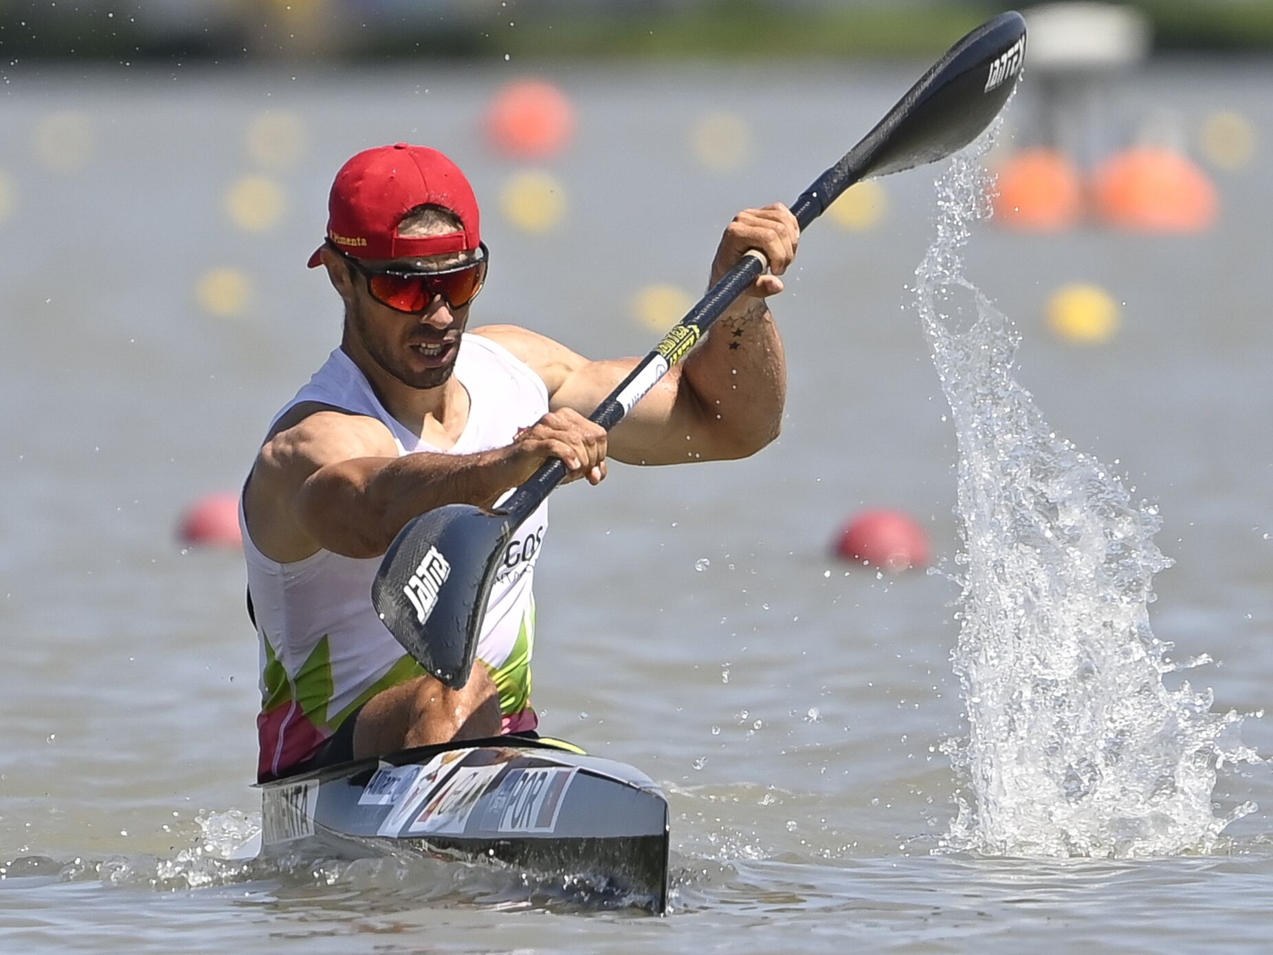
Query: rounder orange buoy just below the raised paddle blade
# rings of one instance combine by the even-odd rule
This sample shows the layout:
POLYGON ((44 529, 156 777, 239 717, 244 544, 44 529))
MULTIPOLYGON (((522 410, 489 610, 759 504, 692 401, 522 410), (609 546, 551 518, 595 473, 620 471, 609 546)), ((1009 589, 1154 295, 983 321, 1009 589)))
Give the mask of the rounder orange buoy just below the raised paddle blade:
POLYGON ((1083 185, 1073 160, 1057 149, 1022 149, 998 169, 994 216, 1002 225, 1059 232, 1083 213, 1083 185))

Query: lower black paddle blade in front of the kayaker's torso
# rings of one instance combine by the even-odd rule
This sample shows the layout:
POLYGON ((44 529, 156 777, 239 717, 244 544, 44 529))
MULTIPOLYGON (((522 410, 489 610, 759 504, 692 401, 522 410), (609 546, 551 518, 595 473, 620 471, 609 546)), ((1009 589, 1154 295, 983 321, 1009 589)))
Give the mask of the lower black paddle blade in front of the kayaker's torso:
POLYGON ((507 514, 447 504, 404 527, 381 560, 372 583, 376 612, 447 686, 468 681, 486 598, 513 530, 507 514))

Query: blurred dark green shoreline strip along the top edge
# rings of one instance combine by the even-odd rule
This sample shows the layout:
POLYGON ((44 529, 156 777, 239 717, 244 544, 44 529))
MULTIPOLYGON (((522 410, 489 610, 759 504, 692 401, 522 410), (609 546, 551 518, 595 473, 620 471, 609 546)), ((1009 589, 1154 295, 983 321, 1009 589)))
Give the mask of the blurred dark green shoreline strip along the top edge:
MULTIPOLYGON (((1162 50, 1273 45, 1273 10, 1258 0, 1132 6, 1162 50)), ((1001 9, 973 0, 9 0, 3 22, 11 56, 79 60, 784 59, 936 53, 1001 9)))

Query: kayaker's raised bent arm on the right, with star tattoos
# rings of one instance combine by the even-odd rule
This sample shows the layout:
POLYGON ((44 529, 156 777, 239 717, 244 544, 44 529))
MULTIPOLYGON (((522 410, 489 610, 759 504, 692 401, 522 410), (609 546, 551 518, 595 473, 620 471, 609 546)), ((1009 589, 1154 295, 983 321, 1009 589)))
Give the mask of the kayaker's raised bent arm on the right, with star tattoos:
MULTIPOLYGON (((608 456, 628 463, 668 465, 754 455, 778 437, 787 399, 787 364, 765 298, 796 256, 799 225, 784 205, 745 209, 724 230, 712 264, 715 284, 755 248, 761 275, 712 326, 707 340, 673 367, 610 434, 608 456)), ((640 358, 592 362, 552 339, 514 326, 475 330, 533 368, 552 409, 592 414, 640 358)))

